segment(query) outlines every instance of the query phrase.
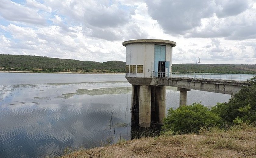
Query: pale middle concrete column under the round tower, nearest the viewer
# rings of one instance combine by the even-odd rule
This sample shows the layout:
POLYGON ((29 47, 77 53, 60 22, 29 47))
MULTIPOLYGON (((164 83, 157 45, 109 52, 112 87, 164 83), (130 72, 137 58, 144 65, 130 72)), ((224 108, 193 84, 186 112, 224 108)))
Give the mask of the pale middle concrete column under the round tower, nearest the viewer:
POLYGON ((139 125, 140 127, 150 127, 151 123, 151 87, 140 86, 139 103, 139 125))

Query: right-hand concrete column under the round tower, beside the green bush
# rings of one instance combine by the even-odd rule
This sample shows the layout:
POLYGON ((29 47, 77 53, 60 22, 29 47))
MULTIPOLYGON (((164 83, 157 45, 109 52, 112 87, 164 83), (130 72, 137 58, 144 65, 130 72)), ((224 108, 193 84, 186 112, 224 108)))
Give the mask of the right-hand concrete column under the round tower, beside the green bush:
POLYGON ((155 88, 155 102, 158 115, 158 123, 163 123, 165 118, 165 94, 166 86, 156 87, 155 88))

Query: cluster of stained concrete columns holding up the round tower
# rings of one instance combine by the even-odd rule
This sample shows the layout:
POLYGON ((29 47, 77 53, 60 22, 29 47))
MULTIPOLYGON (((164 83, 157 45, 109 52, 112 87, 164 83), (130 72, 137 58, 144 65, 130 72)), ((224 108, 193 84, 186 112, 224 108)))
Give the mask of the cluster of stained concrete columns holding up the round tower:
POLYGON ((132 85, 131 122, 150 127, 151 122, 163 123, 166 86, 132 85))

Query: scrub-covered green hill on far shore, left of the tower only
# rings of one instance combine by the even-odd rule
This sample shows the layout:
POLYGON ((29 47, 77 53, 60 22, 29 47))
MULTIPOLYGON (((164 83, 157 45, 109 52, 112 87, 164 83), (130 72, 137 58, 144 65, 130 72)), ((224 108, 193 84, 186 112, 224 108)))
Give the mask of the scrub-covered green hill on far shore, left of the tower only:
POLYGON ((37 72, 125 72, 125 62, 79 61, 51 57, 0 54, 0 69, 37 72))

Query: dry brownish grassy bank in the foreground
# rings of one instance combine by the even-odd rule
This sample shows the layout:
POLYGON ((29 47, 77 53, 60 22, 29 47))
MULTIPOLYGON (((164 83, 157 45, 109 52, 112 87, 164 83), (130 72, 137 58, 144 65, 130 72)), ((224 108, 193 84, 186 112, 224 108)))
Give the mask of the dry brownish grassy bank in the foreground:
POLYGON ((159 136, 120 140, 112 146, 78 150, 62 158, 168 157, 168 158, 255 158, 256 127, 241 125, 224 131, 218 128, 201 130, 199 135, 159 136))

